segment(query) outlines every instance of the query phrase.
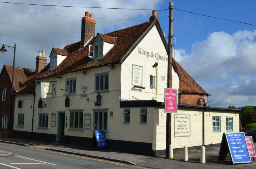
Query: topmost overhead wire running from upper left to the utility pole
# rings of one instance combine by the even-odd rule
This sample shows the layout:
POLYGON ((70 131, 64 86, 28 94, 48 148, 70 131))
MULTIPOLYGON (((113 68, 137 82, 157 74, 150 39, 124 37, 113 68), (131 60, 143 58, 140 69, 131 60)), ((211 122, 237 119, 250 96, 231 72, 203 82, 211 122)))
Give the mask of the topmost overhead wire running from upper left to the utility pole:
POLYGON ((129 9, 129 10, 145 10, 145 11, 165 11, 167 9, 136 9, 136 8, 117 8, 117 7, 85 7, 85 6, 65 6, 65 5, 44 5, 44 4, 24 4, 24 3, 17 3, 17 2, 1 2, 0 3, 8 3, 8 4, 21 4, 21 5, 37 5, 37 6, 54 6, 54 7, 80 7, 80 8, 98 8, 98 9, 129 9))

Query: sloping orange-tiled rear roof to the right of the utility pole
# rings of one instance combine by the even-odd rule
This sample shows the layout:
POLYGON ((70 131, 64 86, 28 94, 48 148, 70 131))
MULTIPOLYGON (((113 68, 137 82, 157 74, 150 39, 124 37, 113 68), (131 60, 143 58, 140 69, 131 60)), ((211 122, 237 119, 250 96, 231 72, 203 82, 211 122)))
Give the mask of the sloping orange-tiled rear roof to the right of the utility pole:
POLYGON ((198 83, 174 60, 174 63, 180 73, 180 92, 201 93, 209 95, 198 83))

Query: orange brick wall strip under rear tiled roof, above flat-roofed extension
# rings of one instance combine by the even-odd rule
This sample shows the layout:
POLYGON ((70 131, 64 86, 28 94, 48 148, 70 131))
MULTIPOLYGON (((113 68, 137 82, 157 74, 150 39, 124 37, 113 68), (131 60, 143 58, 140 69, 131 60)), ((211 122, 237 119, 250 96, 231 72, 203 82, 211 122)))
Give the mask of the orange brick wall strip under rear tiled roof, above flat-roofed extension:
POLYGON ((206 105, 204 95, 200 94, 181 94, 180 103, 190 105, 206 105))

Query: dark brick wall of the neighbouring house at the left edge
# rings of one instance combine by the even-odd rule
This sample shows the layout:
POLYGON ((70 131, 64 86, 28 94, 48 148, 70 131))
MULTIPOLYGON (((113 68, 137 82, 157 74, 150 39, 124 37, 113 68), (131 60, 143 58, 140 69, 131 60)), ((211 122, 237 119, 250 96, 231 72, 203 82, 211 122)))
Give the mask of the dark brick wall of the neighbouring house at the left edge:
MULTIPOLYGON (((2 116, 8 116, 10 114, 11 108, 11 80, 9 75, 7 74, 6 68, 3 67, 2 72, 0 74, 0 137, 7 137, 8 130, 2 129, 2 116), (2 91, 6 88, 6 101, 2 101, 2 91)), ((14 92, 13 92, 14 93, 14 92)), ((13 123, 14 117, 14 106, 15 106, 15 96, 13 96, 13 107, 12 107, 12 117, 11 122, 13 123)), ((7 128, 9 128, 9 120, 7 123, 7 128)), ((13 133, 13 124, 11 125, 11 134, 13 133)))

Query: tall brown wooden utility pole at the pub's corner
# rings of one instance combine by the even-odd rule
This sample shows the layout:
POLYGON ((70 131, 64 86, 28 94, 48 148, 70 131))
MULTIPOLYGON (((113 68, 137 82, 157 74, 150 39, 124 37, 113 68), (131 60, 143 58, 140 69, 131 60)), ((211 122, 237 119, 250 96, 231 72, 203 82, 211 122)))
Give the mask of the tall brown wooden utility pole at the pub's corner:
MULTIPOLYGON (((169 36, 168 36, 168 67, 167 67, 167 88, 173 88, 173 2, 169 5, 169 36)), ((169 157, 169 145, 171 144, 171 121, 172 114, 166 114, 166 149, 165 157, 169 157)))

